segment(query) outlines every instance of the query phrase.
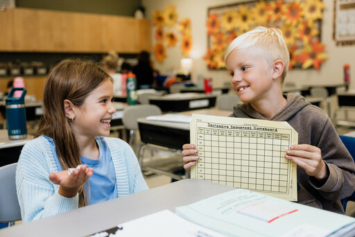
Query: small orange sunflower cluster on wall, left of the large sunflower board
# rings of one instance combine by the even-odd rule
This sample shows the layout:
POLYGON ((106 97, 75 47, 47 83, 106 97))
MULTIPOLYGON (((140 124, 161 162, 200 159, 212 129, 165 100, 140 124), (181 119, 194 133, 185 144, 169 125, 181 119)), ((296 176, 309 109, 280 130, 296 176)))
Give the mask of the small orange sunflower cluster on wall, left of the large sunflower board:
POLYGON ((188 56, 192 47, 191 20, 184 18, 178 21, 175 6, 167 6, 164 12, 153 12, 153 26, 155 27, 154 55, 158 62, 166 58, 166 47, 177 46, 180 40, 180 49, 184 56, 188 56), (178 33, 180 37, 178 37, 178 33))

